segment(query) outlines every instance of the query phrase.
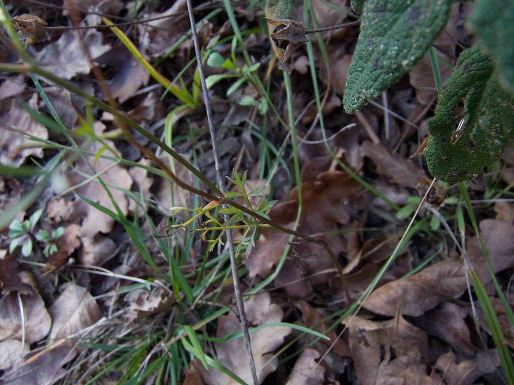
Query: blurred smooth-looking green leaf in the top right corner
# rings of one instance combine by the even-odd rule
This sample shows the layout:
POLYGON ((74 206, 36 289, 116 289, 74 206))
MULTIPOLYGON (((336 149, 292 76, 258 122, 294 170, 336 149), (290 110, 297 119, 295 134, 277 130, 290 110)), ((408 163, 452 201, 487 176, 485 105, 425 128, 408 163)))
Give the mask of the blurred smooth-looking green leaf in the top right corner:
POLYGON ((477 0, 469 25, 498 70, 500 83, 514 96, 514 2, 477 0))

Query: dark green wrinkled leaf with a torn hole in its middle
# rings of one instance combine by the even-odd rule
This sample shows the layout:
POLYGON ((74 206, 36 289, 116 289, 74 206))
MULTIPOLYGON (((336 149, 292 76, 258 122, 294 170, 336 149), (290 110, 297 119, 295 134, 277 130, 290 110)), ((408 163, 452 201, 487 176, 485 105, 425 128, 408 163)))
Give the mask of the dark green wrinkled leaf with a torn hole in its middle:
POLYGON ((483 174, 512 138, 513 114, 514 98, 500 87, 489 58, 477 46, 463 51, 429 123, 425 157, 432 175, 459 182, 483 174))

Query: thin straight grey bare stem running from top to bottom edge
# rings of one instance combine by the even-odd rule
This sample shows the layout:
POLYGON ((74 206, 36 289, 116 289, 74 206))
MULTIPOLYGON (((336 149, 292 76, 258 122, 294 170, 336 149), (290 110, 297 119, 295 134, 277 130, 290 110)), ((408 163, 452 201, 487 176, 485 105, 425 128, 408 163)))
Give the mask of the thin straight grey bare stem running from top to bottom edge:
MULTIPOLYGON (((198 72, 200 74, 201 88, 204 93, 205 109, 207 112, 207 122, 209 123, 209 132, 211 134, 212 150, 214 152, 214 164, 215 164, 215 168, 216 168, 216 177, 218 180, 219 190, 222 192, 222 194, 225 194, 225 187, 224 187, 225 183, 224 183, 224 180, 222 179, 222 174, 221 174, 221 160, 219 159, 219 151, 218 151, 217 143, 216 143, 216 136, 215 136, 215 132, 214 132, 214 123, 213 123, 213 119, 212 119, 212 110, 211 110, 210 99, 209 99, 209 91, 207 89, 203 63, 201 60, 200 45, 198 43, 198 35, 196 33, 196 23, 195 23, 194 16, 193 16, 193 6, 191 5, 191 0, 186 0, 186 3, 188 5, 189 20, 191 22, 191 31, 192 31, 194 48, 195 48, 195 53, 196 53, 196 63, 198 65, 198 72)), ((230 218, 227 215, 225 215, 225 220, 229 220, 229 219, 230 218)), ((235 258, 234 244, 232 243, 232 232, 230 231, 230 229, 227 229, 226 234, 227 234, 227 245, 229 248, 229 256, 230 256, 230 267, 232 269, 232 280, 234 282, 235 298, 236 298, 236 302, 237 302, 237 309, 239 311, 239 318, 241 320, 241 326, 243 328, 243 337, 245 340, 246 351, 248 353, 250 370, 252 372, 254 385, 259 385, 259 379, 257 377, 257 372, 255 370, 255 363, 253 361, 252 347, 250 344, 250 333, 248 333, 248 326, 246 324, 245 307, 244 307, 244 302, 243 302, 243 296, 241 294, 241 287, 239 284, 239 276, 237 274, 237 261, 235 258)))

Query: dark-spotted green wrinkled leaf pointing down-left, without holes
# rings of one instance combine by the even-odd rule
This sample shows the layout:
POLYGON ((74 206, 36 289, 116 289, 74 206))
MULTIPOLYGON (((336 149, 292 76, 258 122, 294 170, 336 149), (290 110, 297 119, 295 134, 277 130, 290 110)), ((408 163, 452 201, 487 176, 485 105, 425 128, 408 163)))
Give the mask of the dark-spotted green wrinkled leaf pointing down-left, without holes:
POLYGON ((359 110, 408 72, 445 26, 451 0, 368 0, 343 104, 359 110))

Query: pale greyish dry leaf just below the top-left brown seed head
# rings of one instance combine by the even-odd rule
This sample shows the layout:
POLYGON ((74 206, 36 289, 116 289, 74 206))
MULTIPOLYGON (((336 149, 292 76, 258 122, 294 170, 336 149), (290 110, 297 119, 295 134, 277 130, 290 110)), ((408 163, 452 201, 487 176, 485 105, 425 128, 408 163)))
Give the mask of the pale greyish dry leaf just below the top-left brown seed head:
MULTIPOLYGON (((102 33, 93 29, 85 32, 84 44, 93 59, 111 49, 102 45, 102 33)), ((35 61, 59 78, 71 79, 81 73, 89 73, 89 62, 80 43, 79 32, 64 31, 59 40, 45 46, 34 55, 35 61)))

